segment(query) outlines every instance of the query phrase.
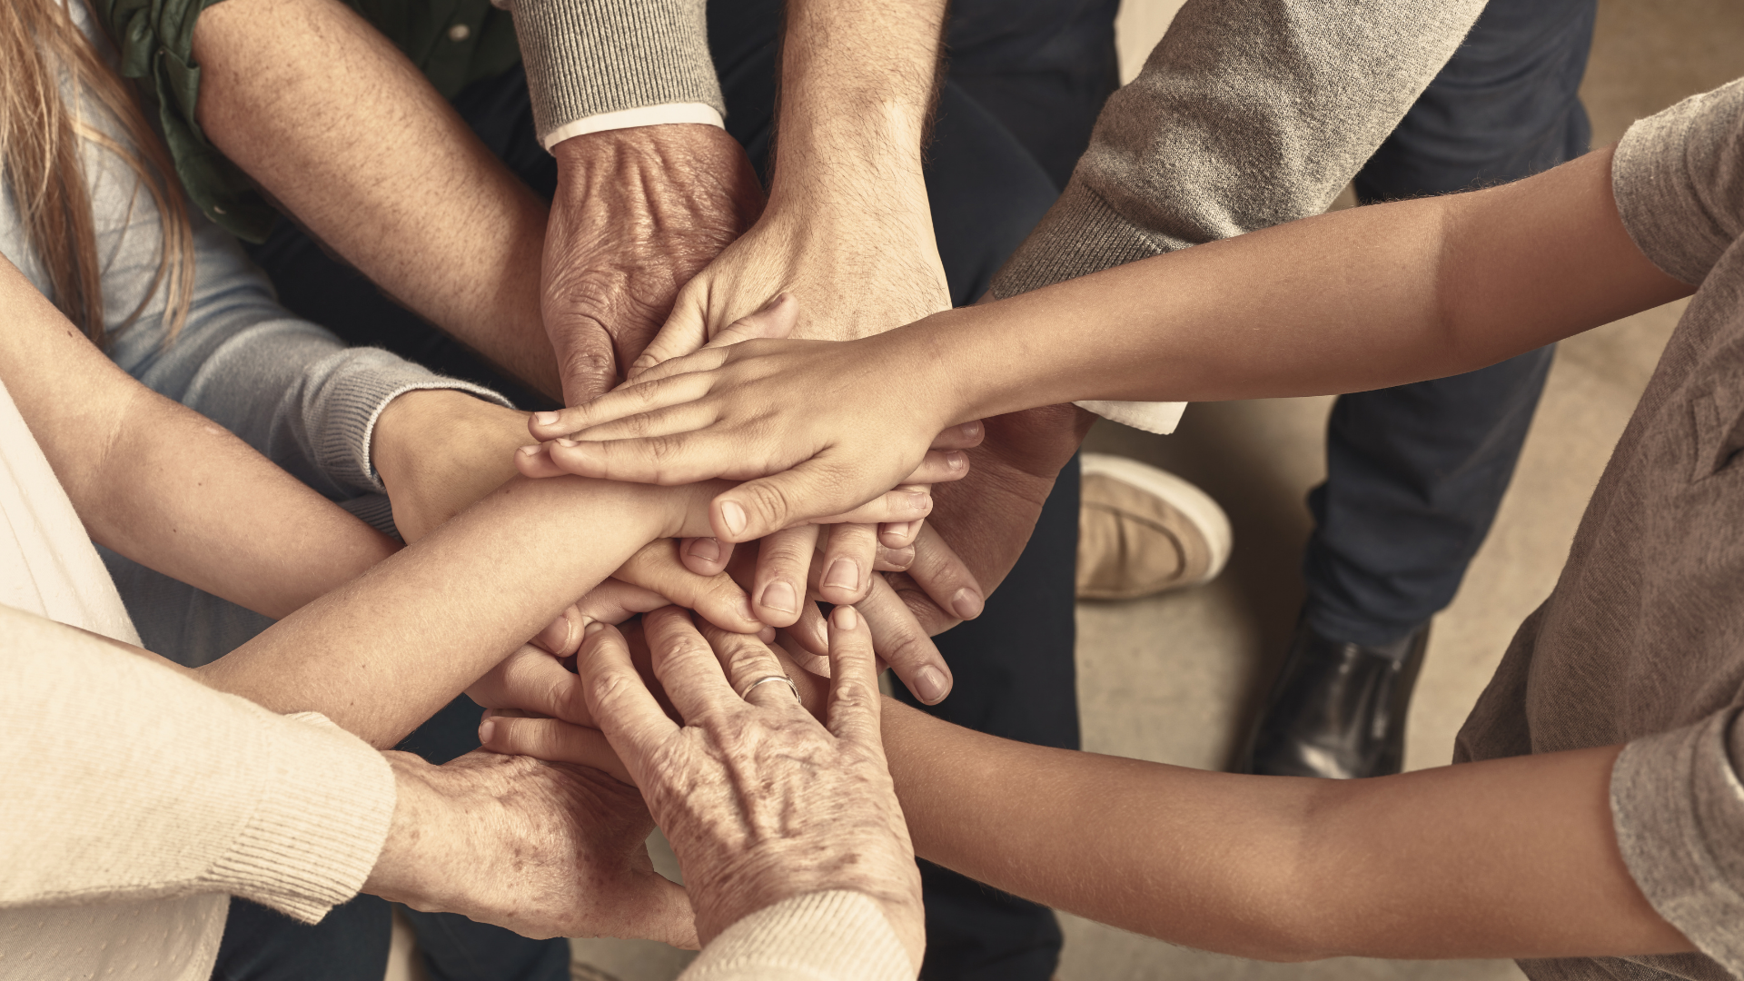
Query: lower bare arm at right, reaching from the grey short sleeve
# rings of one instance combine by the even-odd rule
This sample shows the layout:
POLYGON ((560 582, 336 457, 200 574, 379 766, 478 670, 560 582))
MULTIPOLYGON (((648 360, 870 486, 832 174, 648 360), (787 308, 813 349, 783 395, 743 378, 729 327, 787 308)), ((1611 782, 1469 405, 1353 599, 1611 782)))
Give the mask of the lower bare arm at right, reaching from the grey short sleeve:
POLYGON ((1378 780, 998 740, 884 702, 916 852, 1083 916, 1268 960, 1688 950, 1629 878, 1617 747, 1378 780))

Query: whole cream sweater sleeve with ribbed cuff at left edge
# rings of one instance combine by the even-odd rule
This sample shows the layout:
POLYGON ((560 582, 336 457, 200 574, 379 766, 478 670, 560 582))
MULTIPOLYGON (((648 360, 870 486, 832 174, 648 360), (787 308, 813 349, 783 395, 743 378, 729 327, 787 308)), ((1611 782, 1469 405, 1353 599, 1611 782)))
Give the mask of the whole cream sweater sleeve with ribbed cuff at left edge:
POLYGON ((303 922, 387 838, 382 754, 70 627, 0 607, 0 908, 225 892, 303 922))

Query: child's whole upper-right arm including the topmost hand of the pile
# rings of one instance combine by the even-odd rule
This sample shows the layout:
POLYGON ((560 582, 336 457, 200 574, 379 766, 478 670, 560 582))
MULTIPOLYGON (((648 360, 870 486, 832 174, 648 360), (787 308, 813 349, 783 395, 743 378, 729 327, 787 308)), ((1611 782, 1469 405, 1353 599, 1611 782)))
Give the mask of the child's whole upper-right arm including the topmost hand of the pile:
POLYGON ((715 503, 715 534, 743 541, 886 490, 970 419, 1468 372, 1692 292, 1629 239, 1610 159, 1278 225, 862 340, 705 349, 535 421, 539 438, 579 440, 521 468, 762 477, 715 503))

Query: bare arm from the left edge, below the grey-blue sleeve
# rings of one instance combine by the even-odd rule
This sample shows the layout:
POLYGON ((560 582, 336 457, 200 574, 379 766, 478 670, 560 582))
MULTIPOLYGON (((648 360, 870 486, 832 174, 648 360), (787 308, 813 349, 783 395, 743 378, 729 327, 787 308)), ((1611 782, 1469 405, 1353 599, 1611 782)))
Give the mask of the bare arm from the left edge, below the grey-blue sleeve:
POLYGON ((3 260, 0 309, 0 382, 94 541, 274 618, 398 548, 127 377, 3 260))

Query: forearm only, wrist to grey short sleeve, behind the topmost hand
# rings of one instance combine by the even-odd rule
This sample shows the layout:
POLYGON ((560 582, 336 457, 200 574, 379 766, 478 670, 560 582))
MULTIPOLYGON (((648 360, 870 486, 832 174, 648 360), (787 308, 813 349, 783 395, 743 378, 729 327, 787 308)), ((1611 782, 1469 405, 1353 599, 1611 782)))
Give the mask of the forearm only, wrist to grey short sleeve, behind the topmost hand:
POLYGON ((1688 292, 1629 239, 1598 152, 1509 187, 1308 218, 952 311, 909 346, 950 367, 950 421, 966 421, 1080 398, 1386 388, 1688 292))

